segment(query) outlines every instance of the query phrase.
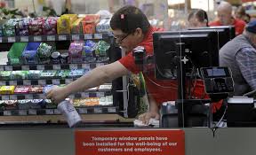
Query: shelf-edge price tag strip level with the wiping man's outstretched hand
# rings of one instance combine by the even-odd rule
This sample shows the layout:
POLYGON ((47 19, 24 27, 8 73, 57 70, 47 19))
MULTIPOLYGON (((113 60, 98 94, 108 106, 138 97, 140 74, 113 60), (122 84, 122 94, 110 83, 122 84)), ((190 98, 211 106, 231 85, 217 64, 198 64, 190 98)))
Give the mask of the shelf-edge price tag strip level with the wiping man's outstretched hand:
MULTIPOLYGON (((89 91, 89 90, 88 90, 89 91)), ((69 98, 86 98, 86 97, 105 97, 111 94, 111 89, 100 89, 93 92, 78 92, 72 94, 69 98)), ((46 99, 43 93, 40 94, 8 94, 0 95, 0 100, 21 100, 21 99, 46 99)))

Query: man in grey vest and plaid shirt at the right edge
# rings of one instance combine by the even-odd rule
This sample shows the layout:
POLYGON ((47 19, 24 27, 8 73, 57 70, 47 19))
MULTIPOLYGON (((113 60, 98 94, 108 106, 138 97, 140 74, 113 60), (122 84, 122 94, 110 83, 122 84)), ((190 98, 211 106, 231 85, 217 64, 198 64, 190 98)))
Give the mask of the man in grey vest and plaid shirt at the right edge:
POLYGON ((220 49, 220 66, 231 69, 235 96, 256 89, 256 20, 248 23, 238 35, 220 49))

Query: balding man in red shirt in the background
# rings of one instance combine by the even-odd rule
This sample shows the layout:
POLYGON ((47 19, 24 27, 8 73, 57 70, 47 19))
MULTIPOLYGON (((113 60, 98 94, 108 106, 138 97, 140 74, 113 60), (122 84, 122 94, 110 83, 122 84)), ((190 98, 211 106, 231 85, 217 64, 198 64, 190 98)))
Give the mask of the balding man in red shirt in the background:
POLYGON ((234 26, 236 35, 241 35, 246 23, 242 19, 235 19, 232 16, 232 5, 228 2, 221 1, 217 7, 218 20, 210 22, 209 26, 234 26))

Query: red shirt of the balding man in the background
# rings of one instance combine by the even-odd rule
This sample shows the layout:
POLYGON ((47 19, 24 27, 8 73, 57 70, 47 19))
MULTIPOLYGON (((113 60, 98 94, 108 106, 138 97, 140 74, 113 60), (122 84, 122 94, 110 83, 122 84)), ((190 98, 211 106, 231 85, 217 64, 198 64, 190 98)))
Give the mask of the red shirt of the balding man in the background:
MULTIPOLYGON (((236 35, 243 34, 244 27, 246 25, 244 20, 242 20, 242 19, 234 19, 234 23, 232 25, 235 27, 236 35)), ((211 23, 209 23, 209 26, 212 27, 212 26, 222 26, 222 25, 220 24, 220 20, 217 20, 217 21, 212 21, 211 23)))

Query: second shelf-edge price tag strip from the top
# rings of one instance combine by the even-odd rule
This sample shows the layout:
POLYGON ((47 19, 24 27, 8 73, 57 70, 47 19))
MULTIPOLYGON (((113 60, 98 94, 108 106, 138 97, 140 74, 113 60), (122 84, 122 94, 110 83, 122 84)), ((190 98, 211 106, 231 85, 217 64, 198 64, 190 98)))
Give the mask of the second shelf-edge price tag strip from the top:
POLYGON ((83 64, 31 64, 31 65, 0 65, 0 71, 28 71, 28 70, 60 70, 60 69, 93 69, 107 63, 83 63, 83 64))

